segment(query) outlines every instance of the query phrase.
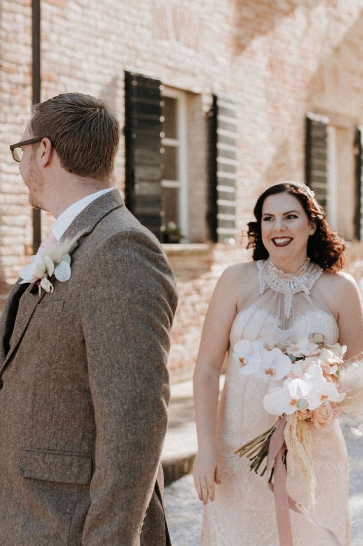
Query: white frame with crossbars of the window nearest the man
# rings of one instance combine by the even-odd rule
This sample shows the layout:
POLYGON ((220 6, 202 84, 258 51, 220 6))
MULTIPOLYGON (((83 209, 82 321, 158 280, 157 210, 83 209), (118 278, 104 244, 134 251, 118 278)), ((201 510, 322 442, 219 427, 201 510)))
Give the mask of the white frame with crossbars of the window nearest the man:
POLYGON ((164 188, 178 188, 178 216, 183 242, 188 241, 188 158, 187 158, 187 101, 182 91, 164 88, 163 97, 177 100, 176 139, 162 138, 162 146, 177 147, 177 180, 162 180, 164 188))

